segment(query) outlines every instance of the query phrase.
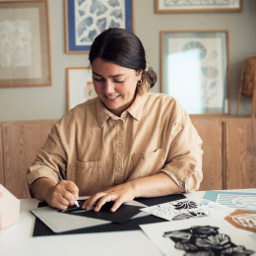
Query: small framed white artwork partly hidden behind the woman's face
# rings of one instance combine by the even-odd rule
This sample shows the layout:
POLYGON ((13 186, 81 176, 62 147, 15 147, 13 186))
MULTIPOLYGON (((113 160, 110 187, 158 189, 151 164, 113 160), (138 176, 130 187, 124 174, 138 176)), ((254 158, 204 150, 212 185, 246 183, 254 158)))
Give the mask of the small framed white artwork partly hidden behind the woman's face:
POLYGON ((67 89, 68 110, 96 97, 91 68, 67 68, 67 89))

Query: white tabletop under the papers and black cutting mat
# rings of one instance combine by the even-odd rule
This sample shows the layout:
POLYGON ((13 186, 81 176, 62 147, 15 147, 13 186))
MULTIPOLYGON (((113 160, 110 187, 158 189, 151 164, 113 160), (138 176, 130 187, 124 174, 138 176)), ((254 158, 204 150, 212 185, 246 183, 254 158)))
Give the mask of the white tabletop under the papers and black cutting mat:
MULTIPOLYGON (((255 189, 231 190, 256 193, 255 189)), ((203 198, 205 192, 185 194, 203 198)), ((142 230, 32 237, 35 218, 30 210, 38 200, 22 199, 20 222, 0 230, 1 256, 162 255, 142 230)))

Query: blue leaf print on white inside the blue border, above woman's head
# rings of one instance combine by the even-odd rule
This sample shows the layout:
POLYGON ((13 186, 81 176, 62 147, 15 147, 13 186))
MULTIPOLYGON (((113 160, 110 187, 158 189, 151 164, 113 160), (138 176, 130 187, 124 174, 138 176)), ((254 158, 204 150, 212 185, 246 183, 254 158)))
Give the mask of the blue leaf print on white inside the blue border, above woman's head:
POLYGON ((91 45, 107 28, 125 28, 125 0, 75 0, 76 44, 91 45))

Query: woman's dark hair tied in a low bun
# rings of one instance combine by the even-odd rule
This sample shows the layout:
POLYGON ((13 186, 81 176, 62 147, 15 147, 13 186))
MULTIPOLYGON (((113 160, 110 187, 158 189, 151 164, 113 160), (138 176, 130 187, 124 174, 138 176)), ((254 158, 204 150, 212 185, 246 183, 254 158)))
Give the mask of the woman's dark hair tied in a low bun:
POLYGON ((143 44, 133 32, 110 28, 98 34, 89 53, 91 65, 96 58, 136 71, 143 70, 142 91, 149 91, 157 82, 157 74, 147 67, 143 44))

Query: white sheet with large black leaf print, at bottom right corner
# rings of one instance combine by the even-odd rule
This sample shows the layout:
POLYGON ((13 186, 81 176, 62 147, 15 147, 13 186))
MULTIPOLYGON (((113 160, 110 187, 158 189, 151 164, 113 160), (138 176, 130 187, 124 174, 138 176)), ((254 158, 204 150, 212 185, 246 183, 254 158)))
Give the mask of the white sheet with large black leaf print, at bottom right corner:
POLYGON ((163 255, 255 255, 252 232, 227 223, 222 218, 205 217, 140 227, 163 255))

